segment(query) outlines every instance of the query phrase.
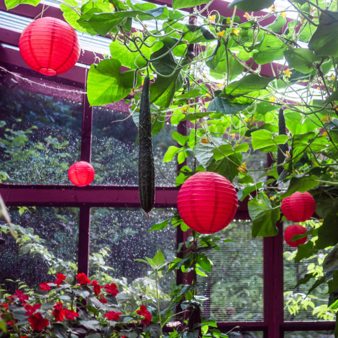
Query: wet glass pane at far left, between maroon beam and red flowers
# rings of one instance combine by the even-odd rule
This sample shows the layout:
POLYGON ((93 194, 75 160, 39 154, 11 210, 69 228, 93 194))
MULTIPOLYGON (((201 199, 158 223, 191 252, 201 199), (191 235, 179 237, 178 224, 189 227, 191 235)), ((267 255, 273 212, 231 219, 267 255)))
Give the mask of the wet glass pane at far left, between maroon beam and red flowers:
POLYGON ((12 236, 0 231, 6 240, 0 245, 0 284, 6 279, 20 279, 34 287, 51 280, 51 267, 57 272, 72 269, 75 273, 79 209, 11 207, 10 215, 13 224, 20 226, 17 233, 23 239, 19 250, 12 236))

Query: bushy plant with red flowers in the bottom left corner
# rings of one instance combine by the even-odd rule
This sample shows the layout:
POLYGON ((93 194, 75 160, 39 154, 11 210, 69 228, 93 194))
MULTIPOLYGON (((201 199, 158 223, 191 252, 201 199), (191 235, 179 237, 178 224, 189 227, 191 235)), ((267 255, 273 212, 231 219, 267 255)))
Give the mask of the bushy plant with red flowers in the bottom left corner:
POLYGON ((5 294, 0 301, 0 318, 7 324, 7 336, 123 337, 132 331, 137 335, 147 332, 151 312, 141 304, 131 315, 122 315, 115 283, 101 286, 85 273, 77 274, 75 285, 66 279, 57 273, 53 282, 40 283, 39 292, 28 288, 23 292, 19 287, 13 295, 5 294))

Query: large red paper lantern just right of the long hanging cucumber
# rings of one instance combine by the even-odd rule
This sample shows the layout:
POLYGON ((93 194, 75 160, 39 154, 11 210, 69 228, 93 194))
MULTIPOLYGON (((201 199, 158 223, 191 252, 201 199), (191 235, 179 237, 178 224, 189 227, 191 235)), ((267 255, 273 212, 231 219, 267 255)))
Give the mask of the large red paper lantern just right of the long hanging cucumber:
POLYGON ((181 186, 177 207, 182 220, 191 229, 212 234, 234 219, 237 211, 236 189, 216 172, 198 172, 181 186))

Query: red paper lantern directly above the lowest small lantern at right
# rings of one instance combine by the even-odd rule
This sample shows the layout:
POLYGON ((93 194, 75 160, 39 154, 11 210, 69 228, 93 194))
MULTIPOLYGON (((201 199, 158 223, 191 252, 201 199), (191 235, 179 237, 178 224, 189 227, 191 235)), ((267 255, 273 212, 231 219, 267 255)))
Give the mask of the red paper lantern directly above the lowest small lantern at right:
POLYGON ((296 191, 291 196, 283 199, 281 209, 288 220, 304 222, 315 212, 316 203, 312 195, 307 191, 304 193, 296 191))

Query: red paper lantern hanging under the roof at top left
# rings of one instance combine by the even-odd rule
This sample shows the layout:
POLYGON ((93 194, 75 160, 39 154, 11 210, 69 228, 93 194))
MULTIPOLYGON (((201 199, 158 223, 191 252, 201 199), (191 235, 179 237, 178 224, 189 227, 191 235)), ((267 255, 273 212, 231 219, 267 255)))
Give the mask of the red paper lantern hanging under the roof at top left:
POLYGON ((29 67, 44 75, 56 75, 75 65, 81 49, 76 32, 67 22, 41 17, 23 30, 19 50, 29 67))

